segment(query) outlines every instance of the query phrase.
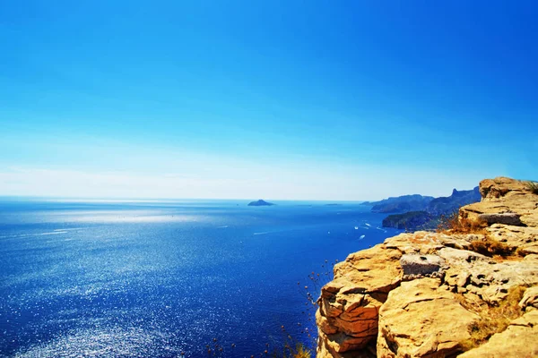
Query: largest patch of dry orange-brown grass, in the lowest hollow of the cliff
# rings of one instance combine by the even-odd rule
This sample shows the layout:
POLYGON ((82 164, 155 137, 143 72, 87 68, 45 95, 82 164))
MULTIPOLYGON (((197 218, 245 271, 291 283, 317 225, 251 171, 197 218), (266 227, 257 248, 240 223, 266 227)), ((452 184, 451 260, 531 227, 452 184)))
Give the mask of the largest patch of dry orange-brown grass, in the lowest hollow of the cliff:
POLYGON ((480 306, 468 303, 464 300, 463 296, 461 300, 458 300, 465 309, 474 311, 480 317, 469 327, 471 337, 462 342, 462 347, 465 351, 482 345, 494 334, 508 328, 511 320, 521 317, 523 311, 521 311, 518 303, 523 298, 525 289, 526 286, 511 287, 508 290, 508 296, 499 303, 499 306, 488 306, 485 304, 480 306))

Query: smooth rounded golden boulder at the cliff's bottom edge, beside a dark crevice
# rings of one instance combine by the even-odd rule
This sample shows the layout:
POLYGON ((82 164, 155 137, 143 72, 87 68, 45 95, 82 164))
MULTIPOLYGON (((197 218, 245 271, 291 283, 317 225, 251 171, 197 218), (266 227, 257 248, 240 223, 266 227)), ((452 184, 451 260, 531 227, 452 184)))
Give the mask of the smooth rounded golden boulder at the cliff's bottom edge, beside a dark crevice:
POLYGON ((377 356, 423 357, 453 355, 470 337, 468 327, 478 316, 466 311, 441 281, 422 278, 393 290, 379 311, 377 356), (457 319, 455 319, 457 318, 457 319))

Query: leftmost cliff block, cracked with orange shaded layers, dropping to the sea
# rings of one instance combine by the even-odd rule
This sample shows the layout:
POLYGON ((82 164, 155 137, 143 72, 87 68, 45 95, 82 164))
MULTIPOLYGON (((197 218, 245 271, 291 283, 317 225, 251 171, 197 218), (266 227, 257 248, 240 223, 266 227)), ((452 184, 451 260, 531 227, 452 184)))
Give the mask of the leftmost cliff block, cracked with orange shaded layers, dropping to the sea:
POLYGON ((379 307, 402 277, 401 256, 377 245, 335 265, 334 280, 322 288, 318 302, 318 356, 341 357, 376 339, 379 307))

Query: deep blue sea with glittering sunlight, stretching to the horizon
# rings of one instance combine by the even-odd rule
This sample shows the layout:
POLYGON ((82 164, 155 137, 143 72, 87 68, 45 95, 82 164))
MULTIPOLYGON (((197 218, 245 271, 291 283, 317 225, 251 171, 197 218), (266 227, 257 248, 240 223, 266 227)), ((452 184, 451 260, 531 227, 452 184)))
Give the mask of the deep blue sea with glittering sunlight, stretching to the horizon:
POLYGON ((396 233, 356 204, 245 204, 0 202, 0 356, 259 356, 282 325, 308 344, 298 281, 396 233))

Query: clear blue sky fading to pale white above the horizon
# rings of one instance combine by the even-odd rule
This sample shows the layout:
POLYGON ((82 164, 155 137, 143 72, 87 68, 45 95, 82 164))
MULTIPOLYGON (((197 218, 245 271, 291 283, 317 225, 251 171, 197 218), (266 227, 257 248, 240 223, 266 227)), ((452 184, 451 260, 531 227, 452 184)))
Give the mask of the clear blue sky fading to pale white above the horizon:
POLYGON ((0 195, 538 179, 535 1, 0 0, 0 195))

